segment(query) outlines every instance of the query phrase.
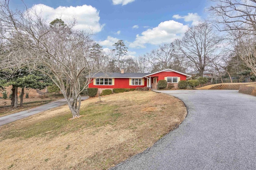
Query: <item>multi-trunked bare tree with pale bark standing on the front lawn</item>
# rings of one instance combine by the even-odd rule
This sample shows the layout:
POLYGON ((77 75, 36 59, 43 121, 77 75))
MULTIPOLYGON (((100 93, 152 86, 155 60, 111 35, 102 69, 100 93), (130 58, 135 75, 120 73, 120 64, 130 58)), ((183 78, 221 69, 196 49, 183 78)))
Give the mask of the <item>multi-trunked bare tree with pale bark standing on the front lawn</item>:
POLYGON ((55 20, 50 25, 36 11, 14 12, 8 1, 1 4, 0 15, 4 26, 2 37, 16 42, 16 45, 10 43, 10 56, 25 56, 28 66, 49 76, 60 88, 73 118, 79 117, 80 94, 99 70, 90 55, 94 45, 91 34, 75 30, 75 21, 66 25, 55 20))

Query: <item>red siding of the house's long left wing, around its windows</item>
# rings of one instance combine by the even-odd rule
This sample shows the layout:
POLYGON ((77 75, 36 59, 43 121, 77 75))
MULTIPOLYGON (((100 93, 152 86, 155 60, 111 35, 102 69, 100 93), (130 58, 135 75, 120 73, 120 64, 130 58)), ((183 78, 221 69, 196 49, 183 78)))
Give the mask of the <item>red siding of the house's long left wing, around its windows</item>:
POLYGON ((115 85, 93 85, 93 81, 88 85, 89 88, 136 88, 147 86, 147 79, 144 78, 144 86, 130 86, 129 78, 115 78, 115 85))

